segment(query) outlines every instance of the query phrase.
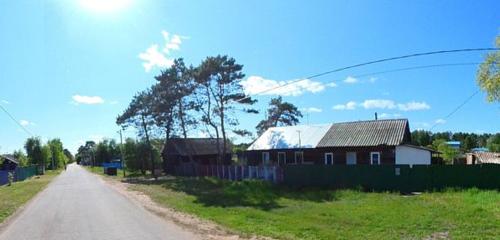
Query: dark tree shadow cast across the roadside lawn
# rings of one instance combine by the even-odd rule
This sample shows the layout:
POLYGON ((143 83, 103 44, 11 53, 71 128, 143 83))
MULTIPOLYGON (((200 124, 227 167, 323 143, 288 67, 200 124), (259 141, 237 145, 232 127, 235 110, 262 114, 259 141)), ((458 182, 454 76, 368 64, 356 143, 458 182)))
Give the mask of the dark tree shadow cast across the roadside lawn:
POLYGON ((245 180, 232 182, 216 178, 169 177, 157 181, 144 178, 127 179, 131 184, 158 185, 165 189, 184 192, 196 197, 204 206, 252 207, 261 210, 280 208, 280 198, 324 202, 337 200, 335 191, 308 189, 296 190, 272 183, 245 180))

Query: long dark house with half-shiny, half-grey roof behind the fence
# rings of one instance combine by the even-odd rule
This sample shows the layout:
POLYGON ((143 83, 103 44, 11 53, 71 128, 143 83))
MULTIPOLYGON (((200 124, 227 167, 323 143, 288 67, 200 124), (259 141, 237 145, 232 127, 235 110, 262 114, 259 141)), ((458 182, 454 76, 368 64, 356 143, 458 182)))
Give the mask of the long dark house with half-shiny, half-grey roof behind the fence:
POLYGON ((431 164, 432 150, 413 146, 407 119, 274 127, 247 149, 260 164, 431 164))

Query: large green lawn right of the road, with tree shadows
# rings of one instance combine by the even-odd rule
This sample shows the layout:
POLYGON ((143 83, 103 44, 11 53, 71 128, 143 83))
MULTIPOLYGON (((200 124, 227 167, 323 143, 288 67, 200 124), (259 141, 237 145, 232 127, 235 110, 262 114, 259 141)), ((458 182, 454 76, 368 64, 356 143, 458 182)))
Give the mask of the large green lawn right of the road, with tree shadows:
MULTIPOLYGON (((132 181, 131 181, 132 182, 132 181)), ((260 181, 134 180, 165 206, 244 235, 278 239, 452 239, 500 236, 498 191, 447 190, 404 196, 355 190, 293 190, 260 181)))

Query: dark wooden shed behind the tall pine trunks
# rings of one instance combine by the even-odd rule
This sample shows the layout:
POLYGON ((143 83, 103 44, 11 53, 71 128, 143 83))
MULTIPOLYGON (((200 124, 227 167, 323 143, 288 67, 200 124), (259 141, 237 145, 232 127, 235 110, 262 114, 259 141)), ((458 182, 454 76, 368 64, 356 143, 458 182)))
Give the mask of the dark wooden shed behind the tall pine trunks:
MULTIPOLYGON (((219 139, 219 149, 222 151, 223 140, 219 139)), ((226 153, 222 164, 230 164, 232 145, 226 144, 226 153)), ((216 164, 218 156, 216 138, 172 138, 163 146, 162 157, 165 164, 180 164, 195 162, 199 164, 216 164)))

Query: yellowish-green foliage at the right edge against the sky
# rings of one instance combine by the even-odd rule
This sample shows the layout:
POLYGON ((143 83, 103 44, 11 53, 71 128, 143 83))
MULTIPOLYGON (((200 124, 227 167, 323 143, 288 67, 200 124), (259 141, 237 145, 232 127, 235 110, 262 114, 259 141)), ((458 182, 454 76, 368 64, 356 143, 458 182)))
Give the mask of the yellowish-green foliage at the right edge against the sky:
MULTIPOLYGON (((496 47, 500 48, 500 36, 496 37, 496 47)), ((500 101, 500 51, 486 54, 479 66, 477 83, 486 92, 488 102, 500 101)))

